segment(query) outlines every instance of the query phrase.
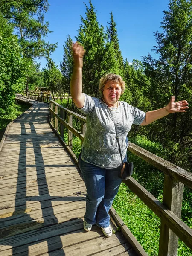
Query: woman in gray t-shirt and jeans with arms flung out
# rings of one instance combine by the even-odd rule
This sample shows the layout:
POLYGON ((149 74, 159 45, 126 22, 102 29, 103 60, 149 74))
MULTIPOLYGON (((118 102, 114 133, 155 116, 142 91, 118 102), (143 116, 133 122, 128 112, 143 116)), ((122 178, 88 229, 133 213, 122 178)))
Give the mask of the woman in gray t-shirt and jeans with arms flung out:
POLYGON ((148 125, 169 113, 186 112, 189 107, 186 100, 174 102, 175 97, 172 96, 164 108, 147 113, 140 111, 126 102, 119 101, 125 90, 125 83, 115 74, 108 74, 100 80, 102 98, 92 98, 82 93, 84 49, 78 43, 73 44, 72 49, 74 68, 71 96, 76 107, 87 115, 87 131, 79 156, 79 166, 87 188, 84 229, 90 231, 92 225, 97 224, 105 236, 109 237, 112 235, 112 229, 108 212, 122 181, 118 177, 121 157, 114 122, 125 162, 127 134, 132 124, 148 125))

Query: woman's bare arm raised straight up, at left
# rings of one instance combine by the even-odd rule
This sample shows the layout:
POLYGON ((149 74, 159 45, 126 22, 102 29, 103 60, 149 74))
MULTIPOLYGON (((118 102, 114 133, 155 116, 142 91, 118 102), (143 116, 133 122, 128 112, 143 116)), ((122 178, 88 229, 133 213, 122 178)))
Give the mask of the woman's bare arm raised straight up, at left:
POLYGON ((82 93, 82 67, 83 67, 83 56, 84 49, 77 42, 72 46, 73 50, 73 74, 70 82, 70 92, 73 102, 77 108, 83 108, 85 96, 82 93))

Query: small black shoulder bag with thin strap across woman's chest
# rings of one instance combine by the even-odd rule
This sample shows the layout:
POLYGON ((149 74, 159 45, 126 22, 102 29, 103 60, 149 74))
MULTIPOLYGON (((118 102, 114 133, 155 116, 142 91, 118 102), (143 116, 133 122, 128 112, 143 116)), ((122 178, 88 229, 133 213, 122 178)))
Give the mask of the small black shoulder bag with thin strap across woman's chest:
MULTIPOLYGON (((109 113, 110 113, 111 118, 113 120, 113 116, 112 116, 110 111, 109 111, 109 113)), ((115 125, 114 120, 113 120, 113 123, 115 125)), ((122 154, 121 154, 121 147, 120 147, 120 143, 119 143, 119 136, 118 136, 118 133, 117 133, 117 130, 116 130, 116 125, 115 125, 115 132, 116 132, 116 140, 117 140, 117 143, 118 143, 118 146, 119 146, 119 152, 120 152, 120 155, 121 155, 121 166, 119 167, 118 176, 122 180, 128 180, 129 177, 133 173, 133 162, 129 162, 129 157, 128 157, 128 162, 123 163, 122 154)))

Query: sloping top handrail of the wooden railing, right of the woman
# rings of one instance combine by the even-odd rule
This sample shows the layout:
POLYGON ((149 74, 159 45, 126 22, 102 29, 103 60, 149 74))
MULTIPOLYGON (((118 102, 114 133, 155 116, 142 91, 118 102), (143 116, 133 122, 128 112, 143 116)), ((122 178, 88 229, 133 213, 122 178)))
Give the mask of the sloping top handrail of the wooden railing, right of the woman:
POLYGON ((128 150, 192 189, 192 173, 129 142, 128 150))

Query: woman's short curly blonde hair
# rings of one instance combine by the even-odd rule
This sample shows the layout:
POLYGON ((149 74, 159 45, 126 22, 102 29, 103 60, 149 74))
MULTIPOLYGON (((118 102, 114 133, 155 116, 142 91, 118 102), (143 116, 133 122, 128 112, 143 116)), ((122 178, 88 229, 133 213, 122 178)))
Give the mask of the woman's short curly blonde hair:
POLYGON ((105 84, 108 82, 108 81, 112 81, 116 84, 119 84, 120 87, 121 87, 121 94, 124 93, 125 91, 125 82, 123 81, 122 77, 119 76, 119 75, 116 75, 116 74, 106 74, 105 76, 103 76, 101 79, 100 79, 100 82, 99 82, 99 90, 102 92, 104 87, 105 87, 105 84))

